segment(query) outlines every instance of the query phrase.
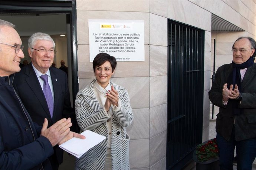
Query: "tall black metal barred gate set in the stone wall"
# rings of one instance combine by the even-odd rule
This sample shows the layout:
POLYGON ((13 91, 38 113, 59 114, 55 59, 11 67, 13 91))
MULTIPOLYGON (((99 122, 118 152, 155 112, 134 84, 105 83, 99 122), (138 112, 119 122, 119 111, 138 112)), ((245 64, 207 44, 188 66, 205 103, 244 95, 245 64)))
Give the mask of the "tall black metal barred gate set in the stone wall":
POLYGON ((167 165, 180 170, 202 141, 204 31, 168 20, 167 165))

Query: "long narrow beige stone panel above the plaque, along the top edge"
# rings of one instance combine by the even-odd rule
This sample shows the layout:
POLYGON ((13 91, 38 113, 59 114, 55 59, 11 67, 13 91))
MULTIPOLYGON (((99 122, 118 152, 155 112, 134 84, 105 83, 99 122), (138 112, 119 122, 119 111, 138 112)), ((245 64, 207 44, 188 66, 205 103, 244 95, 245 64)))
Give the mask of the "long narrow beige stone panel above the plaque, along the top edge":
POLYGON ((148 0, 76 0, 77 10, 149 12, 148 0))

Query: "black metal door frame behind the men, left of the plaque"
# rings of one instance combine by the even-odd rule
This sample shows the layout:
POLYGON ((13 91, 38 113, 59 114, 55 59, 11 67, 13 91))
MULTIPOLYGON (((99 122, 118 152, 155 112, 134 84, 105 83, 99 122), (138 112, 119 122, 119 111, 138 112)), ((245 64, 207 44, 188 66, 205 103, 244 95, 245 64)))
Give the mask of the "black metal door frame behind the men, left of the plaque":
MULTIPOLYGON (((79 91, 77 38, 76 38, 76 1, 75 0, 0 0, 0 13, 14 14, 69 14, 70 22, 70 55, 72 69, 72 98, 75 102, 79 91)), ((68 16, 68 15, 67 15, 68 16)), ((68 30, 67 30, 68 31, 68 30)))

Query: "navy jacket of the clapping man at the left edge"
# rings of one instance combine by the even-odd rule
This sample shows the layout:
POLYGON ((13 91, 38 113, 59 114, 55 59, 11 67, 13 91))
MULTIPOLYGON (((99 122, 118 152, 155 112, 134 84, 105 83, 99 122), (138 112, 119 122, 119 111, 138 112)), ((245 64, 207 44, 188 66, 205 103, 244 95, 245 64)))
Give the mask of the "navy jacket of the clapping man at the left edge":
POLYGON ((0 77, 0 170, 51 170, 50 141, 40 136, 9 76, 0 77), (40 137, 38 137, 40 136, 40 137))

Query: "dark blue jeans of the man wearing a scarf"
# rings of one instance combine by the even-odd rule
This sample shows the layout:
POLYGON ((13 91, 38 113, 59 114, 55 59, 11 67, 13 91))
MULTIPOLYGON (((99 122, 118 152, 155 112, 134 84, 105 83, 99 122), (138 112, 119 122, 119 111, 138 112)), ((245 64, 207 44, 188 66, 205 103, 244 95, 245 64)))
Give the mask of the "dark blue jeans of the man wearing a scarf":
POLYGON ((219 147, 220 170, 233 170, 235 147, 237 170, 252 170, 252 163, 256 157, 256 139, 247 139, 237 142, 235 140, 235 127, 233 126, 229 141, 217 133, 217 144, 219 147))

